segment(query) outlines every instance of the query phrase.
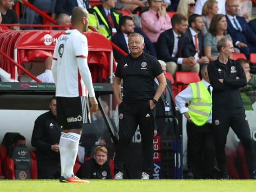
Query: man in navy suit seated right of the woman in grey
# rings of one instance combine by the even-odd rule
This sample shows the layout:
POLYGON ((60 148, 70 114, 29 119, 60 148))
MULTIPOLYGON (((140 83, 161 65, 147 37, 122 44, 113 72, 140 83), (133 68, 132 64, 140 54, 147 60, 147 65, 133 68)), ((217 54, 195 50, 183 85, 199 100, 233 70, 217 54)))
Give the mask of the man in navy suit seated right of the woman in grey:
POLYGON ((226 1, 228 34, 234 45, 249 59, 250 53, 256 53, 256 34, 248 27, 245 18, 237 16, 238 7, 237 0, 226 1))

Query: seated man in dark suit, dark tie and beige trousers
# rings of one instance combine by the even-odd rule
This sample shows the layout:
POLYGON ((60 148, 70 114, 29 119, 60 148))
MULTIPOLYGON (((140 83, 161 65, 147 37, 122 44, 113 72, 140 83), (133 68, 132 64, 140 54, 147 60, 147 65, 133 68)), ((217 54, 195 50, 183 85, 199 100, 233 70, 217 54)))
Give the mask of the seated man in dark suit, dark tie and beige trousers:
POLYGON ((199 64, 189 56, 184 33, 187 30, 187 18, 183 14, 172 17, 173 29, 162 32, 157 40, 157 56, 166 62, 167 71, 174 76, 178 65, 182 71, 199 72, 199 64))

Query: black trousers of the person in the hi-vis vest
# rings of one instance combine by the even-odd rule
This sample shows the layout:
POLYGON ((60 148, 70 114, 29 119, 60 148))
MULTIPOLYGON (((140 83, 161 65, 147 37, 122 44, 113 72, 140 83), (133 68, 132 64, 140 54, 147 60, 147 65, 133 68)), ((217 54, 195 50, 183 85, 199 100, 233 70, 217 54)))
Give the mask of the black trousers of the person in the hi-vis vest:
POLYGON ((210 179, 214 168, 212 124, 197 126, 187 122, 188 162, 195 179, 210 179))

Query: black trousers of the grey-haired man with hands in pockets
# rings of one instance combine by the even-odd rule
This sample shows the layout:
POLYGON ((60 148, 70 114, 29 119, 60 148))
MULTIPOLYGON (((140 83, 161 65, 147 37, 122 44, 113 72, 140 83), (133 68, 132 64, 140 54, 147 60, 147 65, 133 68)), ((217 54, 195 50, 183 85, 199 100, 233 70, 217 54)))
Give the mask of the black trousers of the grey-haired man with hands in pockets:
POLYGON ((142 172, 151 173, 154 124, 155 108, 151 110, 149 100, 138 104, 122 102, 119 105, 119 141, 114 158, 115 174, 124 171, 124 162, 129 158, 128 147, 138 125, 142 135, 142 172))

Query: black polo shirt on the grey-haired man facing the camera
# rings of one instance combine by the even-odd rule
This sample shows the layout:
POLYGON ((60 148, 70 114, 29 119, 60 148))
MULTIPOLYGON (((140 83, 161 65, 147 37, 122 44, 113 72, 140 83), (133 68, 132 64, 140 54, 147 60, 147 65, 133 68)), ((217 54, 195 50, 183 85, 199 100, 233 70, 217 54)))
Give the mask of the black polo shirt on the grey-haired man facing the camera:
POLYGON ((123 101, 138 103, 153 98, 154 79, 162 72, 158 60, 149 54, 143 53, 138 58, 123 57, 115 71, 115 76, 123 79, 123 101))

